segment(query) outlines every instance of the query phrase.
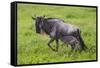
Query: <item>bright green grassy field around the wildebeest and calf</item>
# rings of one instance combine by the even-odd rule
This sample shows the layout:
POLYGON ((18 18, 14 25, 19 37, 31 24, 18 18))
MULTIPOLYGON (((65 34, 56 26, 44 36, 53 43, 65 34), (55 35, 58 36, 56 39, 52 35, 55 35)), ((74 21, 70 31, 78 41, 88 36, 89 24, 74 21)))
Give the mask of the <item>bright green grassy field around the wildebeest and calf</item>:
MULTIPOLYGON (((96 60, 96 8, 18 4, 17 9, 18 65, 96 60), (88 51, 72 53, 66 45, 59 46, 58 52, 52 51, 47 45, 49 36, 35 32, 34 15, 60 18, 78 26, 88 51)), ((55 42, 52 46, 55 48, 55 42)))

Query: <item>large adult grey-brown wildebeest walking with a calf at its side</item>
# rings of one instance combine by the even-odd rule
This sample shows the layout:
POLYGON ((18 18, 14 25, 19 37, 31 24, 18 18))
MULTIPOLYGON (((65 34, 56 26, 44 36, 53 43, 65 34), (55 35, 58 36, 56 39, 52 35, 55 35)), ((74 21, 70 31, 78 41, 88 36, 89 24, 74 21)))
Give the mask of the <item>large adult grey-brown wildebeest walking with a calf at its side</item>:
POLYGON ((80 34, 80 29, 74 25, 64 23, 62 19, 58 18, 45 18, 44 16, 32 17, 35 20, 36 33, 44 31, 50 36, 48 46, 53 51, 58 51, 59 40, 64 36, 73 36, 80 42, 80 48, 84 50, 86 48, 84 41, 80 34), (51 47, 51 43, 56 41, 56 49, 51 47))

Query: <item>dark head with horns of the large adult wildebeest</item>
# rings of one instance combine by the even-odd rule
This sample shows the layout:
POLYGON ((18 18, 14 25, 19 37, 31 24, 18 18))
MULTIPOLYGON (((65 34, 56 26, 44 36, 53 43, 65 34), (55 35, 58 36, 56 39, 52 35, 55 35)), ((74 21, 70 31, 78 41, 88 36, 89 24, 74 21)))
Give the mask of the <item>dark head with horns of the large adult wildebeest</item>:
POLYGON ((32 17, 35 20, 36 33, 41 33, 44 18, 45 16, 32 17))

